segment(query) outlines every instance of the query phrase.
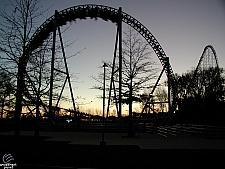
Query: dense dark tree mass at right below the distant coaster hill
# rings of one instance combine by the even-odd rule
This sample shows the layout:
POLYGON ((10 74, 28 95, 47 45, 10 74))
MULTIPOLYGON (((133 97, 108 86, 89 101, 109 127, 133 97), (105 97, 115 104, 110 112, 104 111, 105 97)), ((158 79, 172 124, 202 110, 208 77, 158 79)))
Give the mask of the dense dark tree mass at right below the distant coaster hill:
POLYGON ((204 124, 219 124, 225 117, 225 76, 222 68, 199 71, 193 80, 194 71, 176 75, 180 96, 179 115, 186 121, 204 124), (192 83, 192 82, 197 83, 192 83), (217 120, 216 120, 217 119, 217 120), (216 122, 217 121, 217 122, 216 122))

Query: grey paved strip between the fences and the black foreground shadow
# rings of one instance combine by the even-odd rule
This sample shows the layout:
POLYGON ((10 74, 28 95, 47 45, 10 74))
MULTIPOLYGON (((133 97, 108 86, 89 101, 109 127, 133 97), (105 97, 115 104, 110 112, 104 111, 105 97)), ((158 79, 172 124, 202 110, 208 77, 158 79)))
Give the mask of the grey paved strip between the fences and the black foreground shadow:
MULTIPOLYGON (((0 135, 13 135, 14 132, 0 132, 0 135)), ((33 131, 21 131, 21 135, 33 136, 33 131)), ((70 144, 99 145, 101 133, 93 132, 48 132, 46 141, 70 141, 70 144)), ((225 139, 208 139, 195 136, 178 135, 168 139, 157 134, 140 133, 139 138, 125 138, 126 133, 105 133, 107 145, 138 145, 141 149, 225 149, 225 139)))

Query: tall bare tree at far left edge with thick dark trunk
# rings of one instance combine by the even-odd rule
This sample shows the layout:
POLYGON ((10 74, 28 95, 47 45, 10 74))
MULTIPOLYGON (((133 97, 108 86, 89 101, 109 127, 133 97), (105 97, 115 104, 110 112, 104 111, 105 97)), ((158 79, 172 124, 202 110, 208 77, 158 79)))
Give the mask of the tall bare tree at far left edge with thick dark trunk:
MULTIPOLYGON (((5 4, 4 9, 0 11, 0 51, 2 52, 2 69, 7 70, 14 78, 19 78, 22 72, 17 72, 18 67, 24 64, 24 60, 20 59, 27 54, 26 46, 30 37, 36 29, 36 24, 43 11, 39 6, 39 0, 9 0, 9 4, 5 4)), ((22 90, 25 85, 17 83, 17 90, 22 90)), ((16 98, 19 101, 16 104, 15 118, 16 128, 15 135, 19 136, 20 132, 20 114, 22 111, 22 96, 16 92, 16 98)))

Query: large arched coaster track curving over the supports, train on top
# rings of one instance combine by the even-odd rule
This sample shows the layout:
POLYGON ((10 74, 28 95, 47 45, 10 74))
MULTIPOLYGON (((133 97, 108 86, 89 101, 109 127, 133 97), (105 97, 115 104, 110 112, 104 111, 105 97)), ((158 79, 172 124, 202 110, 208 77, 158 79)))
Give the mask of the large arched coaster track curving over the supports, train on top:
MULTIPOLYGON (((119 22, 119 10, 103 6, 103 5, 79 5, 64 9, 58 12, 57 21, 58 26, 66 25, 67 22, 75 21, 76 19, 86 19, 90 17, 91 19, 101 18, 105 21, 111 21, 113 23, 119 22)), ((152 33, 142 25, 138 20, 128 15, 125 12, 122 12, 121 19, 124 23, 128 24, 132 28, 134 28, 137 32, 139 32, 144 39, 149 43, 149 45, 154 50, 155 54, 159 58, 162 66, 164 67, 166 64, 165 58, 167 57, 165 52, 163 51, 161 45, 156 40, 156 38, 152 35, 152 33)), ((54 29, 54 20, 55 15, 48 18, 33 34, 28 45, 26 46, 26 55, 23 55, 23 67, 26 68, 27 62, 29 60, 30 53, 37 49, 42 45, 44 40, 46 40, 51 32, 54 29)), ((171 81, 171 94, 173 98, 172 110, 175 109, 177 104, 177 92, 176 92, 176 79, 172 70, 171 65, 169 64, 169 69, 166 69, 166 74, 170 78, 171 81), (168 71, 169 70, 169 71, 168 71)))

